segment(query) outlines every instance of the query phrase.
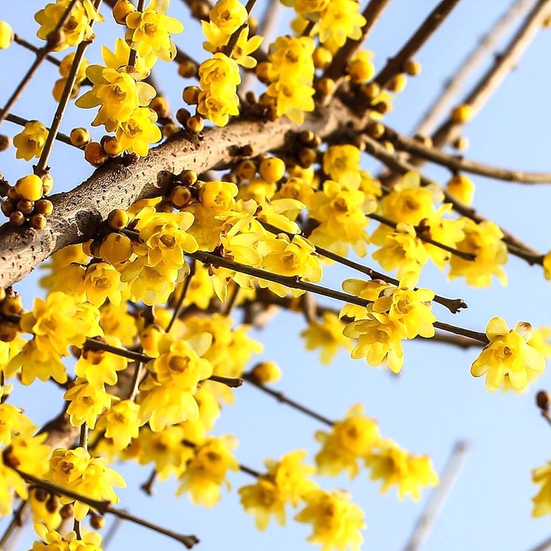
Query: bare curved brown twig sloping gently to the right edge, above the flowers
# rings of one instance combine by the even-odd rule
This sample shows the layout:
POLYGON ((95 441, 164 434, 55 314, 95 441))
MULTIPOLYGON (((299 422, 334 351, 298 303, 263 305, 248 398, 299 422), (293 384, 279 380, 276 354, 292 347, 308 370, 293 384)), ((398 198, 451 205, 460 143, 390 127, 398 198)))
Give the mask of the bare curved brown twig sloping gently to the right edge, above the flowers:
POLYGON ((486 176, 487 178, 523 184, 551 183, 550 172, 527 172, 523 170, 506 169, 486 165, 485 163, 477 163, 475 160, 469 160, 462 156, 448 155, 441 149, 426 147, 426 145, 423 145, 418 140, 402 136, 402 134, 398 134, 398 132, 388 126, 385 127, 385 137, 392 141, 397 149, 417 157, 422 157, 431 163, 446 167, 453 172, 470 172, 471 174, 486 176))

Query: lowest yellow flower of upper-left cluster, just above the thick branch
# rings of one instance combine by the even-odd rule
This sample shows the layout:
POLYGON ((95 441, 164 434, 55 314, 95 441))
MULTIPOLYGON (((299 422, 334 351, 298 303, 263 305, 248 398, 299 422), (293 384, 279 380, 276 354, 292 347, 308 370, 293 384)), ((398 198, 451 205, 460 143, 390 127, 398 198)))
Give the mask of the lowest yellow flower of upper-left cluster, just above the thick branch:
POLYGON ((116 139, 121 151, 136 153, 145 157, 149 153, 149 144, 163 138, 155 124, 157 114, 149 107, 138 107, 128 120, 116 129, 116 139))

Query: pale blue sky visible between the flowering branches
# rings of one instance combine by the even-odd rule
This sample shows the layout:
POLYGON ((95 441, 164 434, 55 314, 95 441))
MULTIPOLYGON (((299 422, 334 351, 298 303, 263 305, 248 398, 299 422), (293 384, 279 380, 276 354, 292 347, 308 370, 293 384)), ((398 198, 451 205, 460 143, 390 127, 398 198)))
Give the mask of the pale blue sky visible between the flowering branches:
MULTIPOLYGON (((377 67, 397 51, 435 4, 428 0, 391 1, 367 43, 375 52, 377 67)), ((186 25, 183 35, 177 39, 178 45, 202 59, 198 24, 188 21, 182 2, 173 0, 171 5, 171 13, 182 18, 186 25)), ((264 2, 258 3, 259 12, 263 5, 264 2)), ((388 123, 408 132, 453 68, 509 5, 510 0, 461 1, 419 54, 424 70, 416 79, 410 79, 395 103, 395 110, 388 116, 388 123)), ((0 19, 9 21, 21 36, 33 40, 36 24, 32 13, 42 6, 43 1, 37 0, 1 0, 0 19)), ((289 19, 288 13, 284 19, 289 19)), ((114 33, 120 28, 107 18, 96 30, 98 41, 112 45, 114 33)), ((91 61, 99 61, 98 49, 91 50, 91 61)), ((551 168, 550 51, 551 33, 543 30, 519 67, 468 125, 470 158, 521 169, 551 168)), ((31 61, 32 55, 16 45, 0 52, 1 102, 31 61)), ((165 63, 159 75, 171 104, 178 107, 184 83, 176 76, 175 67, 165 63)), ((39 78, 25 92, 14 112, 48 123, 55 107, 50 88, 56 78, 55 67, 41 67, 39 78)), ((90 117, 89 112, 72 108, 62 129, 67 132, 90 121, 90 117)), ((4 123, 2 132, 14 134, 17 127, 4 123)), ((90 173, 79 152, 61 143, 56 144, 50 164, 56 191, 70 189, 90 173)), ((16 163, 14 149, 10 149, 0 153, 0 167, 13 181, 30 170, 30 163, 26 167, 21 161, 16 163)), ((366 167, 376 171, 378 165, 368 160, 366 167)), ((447 178, 445 171, 435 167, 426 167, 426 174, 441 183, 447 178)), ((484 216, 496 220, 541 251, 551 248, 549 187, 474 179, 475 205, 484 216)), ((506 271, 508 287, 495 282, 491 289, 469 288, 461 281, 446 282, 445 275, 434 268, 424 271, 422 284, 446 296, 461 296, 470 305, 455 317, 435 305, 435 312, 444 321, 453 318, 453 322, 462 326, 484 330, 488 320, 499 315, 510 326, 519 320, 535 326, 551 325, 550 282, 543 280, 541 267, 529 267, 511 258, 506 271)), ((326 282, 338 286, 346 277, 353 274, 331 269, 327 271, 326 282)), ((18 286, 27 305, 41 292, 36 281, 37 273, 33 273, 18 286)), ((439 472, 457 439, 470 442, 472 448, 461 477, 426 543, 426 551, 523 551, 551 534, 549 518, 530 517, 530 498, 536 492, 530 470, 551 459, 550 429, 534 407, 535 392, 549 384, 547 373, 523 395, 491 394, 485 390, 483 380, 470 377, 469 367, 475 351, 418 341, 405 344, 406 363, 399 377, 391 377, 381 368, 370 368, 360 360, 349 360, 344 353, 331 366, 322 368, 316 355, 304 351, 298 336, 302 329, 302 318, 281 313, 271 326, 258 334, 265 346, 262 357, 282 366, 284 377, 278 389, 332 418, 343 417, 351 404, 361 402, 368 415, 380 423, 384 435, 414 453, 428 453, 439 472)), ((13 402, 24 406, 37 422, 56 414, 60 401, 61 394, 52 384, 37 383, 32 388, 18 390, 13 397, 13 402)), ((236 451, 238 459, 261 469, 266 457, 280 457, 295 448, 315 453, 313 434, 320 428, 312 419, 244 386, 236 393, 236 404, 225 410, 215 432, 235 434, 240 442, 236 451)), ((287 547, 306 551, 316 548, 305 541, 309 528, 291 520, 286 528, 271 526, 267 532, 258 532, 253 518, 240 508, 236 491, 225 492, 216 508, 206 510, 192 506, 185 496, 174 498, 175 486, 170 482, 158 484, 153 499, 145 497, 138 486, 149 475, 148 468, 128 466, 123 468, 123 474, 129 488, 121 492, 121 505, 165 526, 197 534, 201 539, 198 549, 214 551, 224 546, 240 551, 258 548, 275 551, 287 547)), ((231 476, 231 483, 236 490, 242 484, 249 484, 249 479, 237 473, 231 476)), ((368 481, 366 472, 352 483, 344 478, 324 478, 320 484, 328 489, 351 490, 354 500, 366 512, 368 530, 364 532, 364 548, 371 550, 404 548, 429 494, 424 492, 419 503, 400 502, 393 491, 381 496, 378 484, 368 481)), ((16 549, 25 549, 23 541, 16 549)), ((141 550, 155 545, 163 545, 167 550, 178 548, 177 543, 131 525, 121 528, 112 548, 141 550)))

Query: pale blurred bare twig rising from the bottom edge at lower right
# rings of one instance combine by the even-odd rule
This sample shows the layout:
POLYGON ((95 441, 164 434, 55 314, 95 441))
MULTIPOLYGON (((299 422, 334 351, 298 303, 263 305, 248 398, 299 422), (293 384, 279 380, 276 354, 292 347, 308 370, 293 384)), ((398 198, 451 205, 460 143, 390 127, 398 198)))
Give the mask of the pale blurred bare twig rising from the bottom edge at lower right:
POLYGON ((435 522, 444 508, 446 500, 455 486, 457 477, 459 477, 468 450, 469 445, 464 441, 455 444, 448 463, 444 467, 444 472, 442 472, 440 484, 430 495, 430 499, 428 499, 419 520, 417 520, 413 534, 411 534, 404 551, 419 551, 430 536, 430 532, 433 531, 435 522))

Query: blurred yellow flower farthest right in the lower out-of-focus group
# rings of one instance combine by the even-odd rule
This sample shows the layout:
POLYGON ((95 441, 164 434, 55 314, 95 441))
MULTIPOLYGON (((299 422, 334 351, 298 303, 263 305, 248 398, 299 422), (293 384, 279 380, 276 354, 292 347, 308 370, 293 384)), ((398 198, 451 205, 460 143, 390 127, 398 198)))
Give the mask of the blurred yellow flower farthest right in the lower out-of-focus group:
POLYGON ((371 480, 383 481, 381 493, 395 485, 399 499, 410 495, 417 501, 422 488, 438 484, 438 475, 428 455, 412 455, 391 440, 382 442, 379 450, 366 457, 365 464, 371 469, 371 480))

